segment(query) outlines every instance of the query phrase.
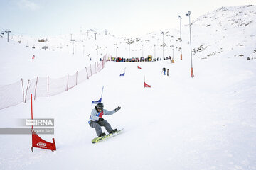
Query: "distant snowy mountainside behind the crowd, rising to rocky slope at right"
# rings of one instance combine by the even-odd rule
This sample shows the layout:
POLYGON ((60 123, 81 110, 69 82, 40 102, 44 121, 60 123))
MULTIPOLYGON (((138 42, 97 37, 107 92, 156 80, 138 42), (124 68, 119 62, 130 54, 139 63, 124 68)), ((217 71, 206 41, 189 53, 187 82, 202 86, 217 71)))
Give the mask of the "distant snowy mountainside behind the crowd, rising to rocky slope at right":
MULTIPOLYGON (((255 57, 255 26, 256 6, 232 6, 218 8, 215 11, 193 19, 191 13, 191 35, 193 54, 197 57, 206 58, 213 55, 223 57, 255 57)), ((182 39, 184 44, 189 43, 188 18, 183 17, 182 39)), ((178 20, 177 20, 178 28, 178 20)), ((36 47, 46 50, 72 52, 71 39, 75 40, 75 52, 80 55, 102 57, 105 53, 113 57, 145 57, 156 55, 162 57, 163 34, 165 54, 172 55, 171 45, 174 52, 179 54, 179 28, 177 30, 159 30, 137 38, 115 37, 107 30, 85 29, 72 35, 59 35, 47 37, 27 37, 26 35, 11 35, 11 40, 21 41, 23 46, 36 47), (95 40, 95 33, 96 39, 95 40), (38 42, 38 40, 47 40, 38 42), (129 45, 130 44, 130 55, 129 45), (155 47, 154 47, 155 45, 155 47), (116 54, 117 53, 117 54, 116 54)), ((3 36, 3 35, 2 35, 3 36)))

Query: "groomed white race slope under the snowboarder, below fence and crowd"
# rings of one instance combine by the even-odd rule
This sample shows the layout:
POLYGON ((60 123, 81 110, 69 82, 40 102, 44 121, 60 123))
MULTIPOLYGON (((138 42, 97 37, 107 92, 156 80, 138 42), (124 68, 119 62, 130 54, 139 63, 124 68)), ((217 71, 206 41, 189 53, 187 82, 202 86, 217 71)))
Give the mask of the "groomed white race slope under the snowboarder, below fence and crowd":
MULTIPOLYGON (((35 149, 30 135, 1 135, 4 169, 255 169, 255 61, 199 60, 191 79, 183 63, 107 63, 90 83, 34 102, 35 118, 54 118, 57 152, 35 149), (242 64, 247 67, 241 66, 242 64), (210 69, 213 64, 221 65, 210 69), (119 77, 127 67, 125 77, 119 77), (232 70, 232 71, 231 71, 232 70), (143 76, 151 89, 144 89, 143 76), (111 76, 110 76, 111 75, 111 76), (92 145, 87 125, 91 100, 105 86, 105 108, 122 109, 105 116, 124 132, 92 145), (129 91, 127 90, 129 89, 129 91), (10 143, 11 142, 11 143, 10 143), (100 160, 100 164, 97 160, 100 160), (64 162, 63 162, 64 161, 64 162)), ((1 111, 1 126, 29 118, 29 104, 1 111)))

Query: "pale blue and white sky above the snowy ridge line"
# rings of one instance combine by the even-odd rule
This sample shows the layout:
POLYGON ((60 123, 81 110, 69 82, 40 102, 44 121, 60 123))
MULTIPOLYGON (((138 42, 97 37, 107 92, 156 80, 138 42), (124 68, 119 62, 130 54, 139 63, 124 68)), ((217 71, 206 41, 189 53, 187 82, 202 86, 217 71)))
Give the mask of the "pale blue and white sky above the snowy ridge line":
POLYGON ((1 0, 0 30, 27 35, 59 35, 107 29, 114 35, 141 35, 178 28, 178 15, 196 19, 222 6, 256 5, 255 0, 1 0))

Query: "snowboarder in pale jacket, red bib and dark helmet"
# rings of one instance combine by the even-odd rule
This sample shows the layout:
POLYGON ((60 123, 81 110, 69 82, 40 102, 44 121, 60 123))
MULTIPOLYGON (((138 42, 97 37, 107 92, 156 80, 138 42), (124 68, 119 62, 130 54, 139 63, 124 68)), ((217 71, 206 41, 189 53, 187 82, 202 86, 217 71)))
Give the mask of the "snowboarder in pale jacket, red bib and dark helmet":
POLYGON ((102 137, 105 136, 105 132, 102 133, 101 126, 104 126, 108 133, 117 132, 117 129, 112 129, 110 126, 110 123, 107 122, 107 120, 104 120, 102 118, 102 115, 112 115, 116 113, 119 109, 121 109, 120 106, 115 108, 113 111, 107 111, 106 109, 103 109, 104 105, 103 103, 97 103, 95 108, 92 109, 91 115, 90 115, 90 121, 88 122, 90 127, 95 128, 97 136, 102 137))

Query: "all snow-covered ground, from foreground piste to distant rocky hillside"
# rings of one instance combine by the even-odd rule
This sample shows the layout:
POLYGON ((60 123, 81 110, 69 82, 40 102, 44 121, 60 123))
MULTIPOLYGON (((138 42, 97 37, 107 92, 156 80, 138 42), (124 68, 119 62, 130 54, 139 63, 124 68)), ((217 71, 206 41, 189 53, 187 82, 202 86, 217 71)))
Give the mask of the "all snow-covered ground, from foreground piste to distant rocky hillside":
MULTIPOLYGON (((228 11, 233 13, 246 8, 255 11, 255 6, 230 7, 228 11)), ((221 13, 228 11, 217 10, 206 14, 204 19, 213 14, 220 17, 221 13)), ((251 17, 254 20, 254 15, 251 17)), ((210 36, 205 28, 209 22, 212 25, 215 21, 213 17, 193 22, 193 38, 201 33, 210 36)), ((227 34, 228 30, 231 33, 248 28, 231 28, 230 23, 224 21, 228 25, 227 34)), ((208 26, 207 29, 213 31, 222 27, 208 26)), ((164 31, 166 44, 174 43, 179 47, 176 41, 178 31, 164 31)), ((209 47, 203 52, 196 52, 193 57, 195 77, 192 79, 190 51, 186 43, 188 33, 183 33, 183 36, 183 60, 176 60, 174 64, 169 61, 107 62, 105 69, 90 77, 89 81, 50 98, 36 98, 34 118, 55 120, 55 134, 40 136, 48 141, 55 137, 57 151, 35 149, 31 153, 31 135, 0 135, 0 169, 256 169, 256 60, 245 60, 246 56, 225 57, 225 54, 235 54, 228 50, 229 40, 237 44, 235 37, 229 35, 219 41, 218 37, 212 40, 200 36, 200 40, 193 40, 194 47, 201 45, 200 42, 209 47), (202 60, 208 52, 219 50, 213 43, 222 45, 223 52, 202 60), (137 69, 137 64, 142 69, 137 69), (162 67, 170 69, 170 77, 161 74, 162 67), (119 77, 124 68, 125 77, 119 77), (151 88, 144 88, 144 76, 151 88), (91 101, 99 98, 102 86, 105 86, 105 108, 112 110, 121 106, 120 111, 104 118, 113 128, 124 128, 124 132, 92 145, 91 140, 96 134, 87 120, 93 108, 91 101)), ((69 41, 68 35, 63 37, 69 41)), ((56 45, 64 43, 57 39, 56 45)), ((125 57, 129 49, 127 40, 132 39, 102 34, 98 40, 92 37, 84 42, 88 47, 85 52, 82 42, 77 42, 77 51, 72 55, 70 45, 44 51, 25 47, 15 40, 7 44, 0 38, 1 47, 4 47, 0 48, 0 54, 7 56, 0 58, 0 76, 3 78, 0 84, 9 84, 21 77, 33 79, 48 74, 61 77, 67 72, 74 73, 98 60, 97 45, 107 47, 107 52, 114 56, 114 43, 117 43, 117 55, 125 57), (36 60, 31 60, 34 54, 36 60), (94 61, 90 61, 87 54, 94 54, 94 61)), ((248 48, 233 48, 238 50, 242 47, 242 52, 252 55, 251 47, 255 41, 250 38, 242 40, 247 40, 244 44, 248 48)), ((139 42, 134 42, 131 45, 134 57, 142 55, 142 42, 144 55, 154 52, 154 44, 159 46, 156 55, 162 55, 161 32, 144 35, 139 42)), ((177 59, 178 54, 176 50, 174 55, 177 59)), ((172 55, 170 49, 169 52, 166 49, 166 55, 172 55)), ((0 110, 0 127, 16 127, 19 119, 30 118, 30 107, 30 103, 21 103, 0 110)))

